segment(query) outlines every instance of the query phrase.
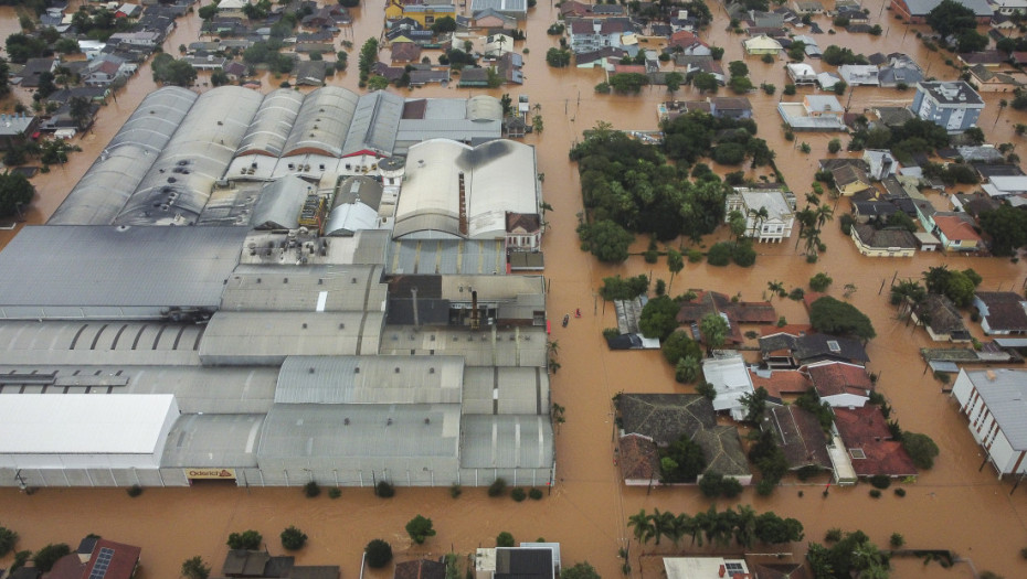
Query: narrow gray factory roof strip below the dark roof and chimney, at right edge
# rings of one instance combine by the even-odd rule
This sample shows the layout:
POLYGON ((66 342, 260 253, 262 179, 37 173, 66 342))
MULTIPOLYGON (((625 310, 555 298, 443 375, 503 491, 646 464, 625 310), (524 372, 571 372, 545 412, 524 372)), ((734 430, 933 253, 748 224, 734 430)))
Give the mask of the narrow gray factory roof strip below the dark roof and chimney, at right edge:
POLYGON ((467 366, 546 367, 544 328, 494 329, 472 332, 464 328, 388 325, 382 330, 379 353, 463 356, 467 366))

